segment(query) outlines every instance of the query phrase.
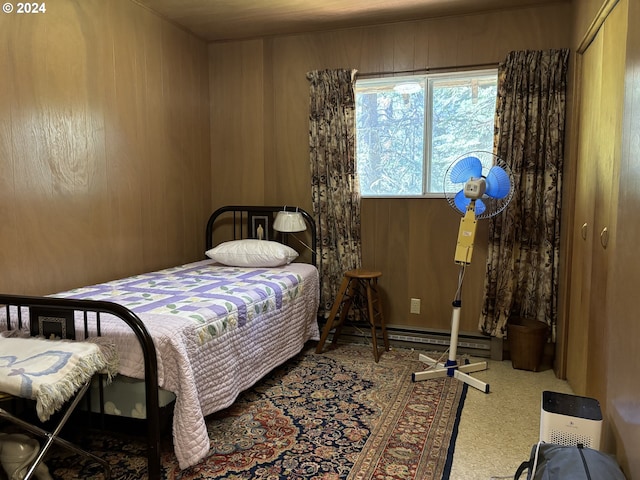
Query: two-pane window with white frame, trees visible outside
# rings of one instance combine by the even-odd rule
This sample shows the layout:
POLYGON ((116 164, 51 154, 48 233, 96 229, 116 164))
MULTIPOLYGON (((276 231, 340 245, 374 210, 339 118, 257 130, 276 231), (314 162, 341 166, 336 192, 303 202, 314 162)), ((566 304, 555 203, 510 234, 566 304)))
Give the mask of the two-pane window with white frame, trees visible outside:
POLYGON ((496 91, 496 70, 357 80, 361 195, 442 195, 451 162, 493 151, 496 91))

